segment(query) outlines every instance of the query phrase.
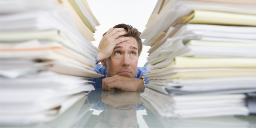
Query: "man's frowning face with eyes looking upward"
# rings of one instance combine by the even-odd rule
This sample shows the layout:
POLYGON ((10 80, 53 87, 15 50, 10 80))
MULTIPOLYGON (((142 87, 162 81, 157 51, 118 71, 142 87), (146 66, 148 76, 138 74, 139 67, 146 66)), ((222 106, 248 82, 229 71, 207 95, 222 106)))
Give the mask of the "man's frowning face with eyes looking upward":
POLYGON ((108 77, 119 75, 134 78, 137 74, 138 44, 135 38, 117 44, 112 55, 102 65, 108 70, 108 77))

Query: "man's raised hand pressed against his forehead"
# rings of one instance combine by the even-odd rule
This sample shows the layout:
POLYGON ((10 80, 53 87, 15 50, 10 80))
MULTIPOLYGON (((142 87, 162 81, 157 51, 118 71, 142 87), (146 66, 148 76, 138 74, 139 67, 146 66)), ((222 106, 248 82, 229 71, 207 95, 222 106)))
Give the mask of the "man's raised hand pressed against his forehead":
POLYGON ((127 34, 127 31, 124 28, 114 28, 108 30, 99 43, 99 51, 97 52, 98 62, 109 58, 117 44, 129 39, 129 37, 122 36, 125 34, 127 34))

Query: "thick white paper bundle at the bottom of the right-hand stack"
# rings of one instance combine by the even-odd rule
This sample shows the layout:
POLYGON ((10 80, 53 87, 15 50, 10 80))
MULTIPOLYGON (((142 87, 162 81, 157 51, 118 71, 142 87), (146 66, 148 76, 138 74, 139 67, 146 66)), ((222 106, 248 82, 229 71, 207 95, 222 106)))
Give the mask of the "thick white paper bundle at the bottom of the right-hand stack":
POLYGON ((165 117, 194 118, 248 115, 244 94, 166 96, 146 88, 141 94, 165 117))

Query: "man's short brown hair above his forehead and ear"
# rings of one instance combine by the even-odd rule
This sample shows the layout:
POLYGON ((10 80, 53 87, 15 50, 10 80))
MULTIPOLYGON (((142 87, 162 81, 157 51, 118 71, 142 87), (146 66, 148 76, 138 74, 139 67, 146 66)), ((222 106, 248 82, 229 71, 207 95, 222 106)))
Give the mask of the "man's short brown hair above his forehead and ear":
MULTIPOLYGON (((125 30, 127 30, 127 34, 124 35, 125 37, 135 38, 135 40, 137 41, 138 47, 139 47, 139 56, 140 56, 140 53, 142 51, 142 41, 140 38, 141 32, 139 32, 138 29, 134 28, 133 26, 131 26, 129 24, 124 24, 124 23, 118 24, 118 25, 114 26, 113 28, 124 28, 125 30)), ((104 36, 106 33, 107 32, 105 32, 102 36, 104 36)))

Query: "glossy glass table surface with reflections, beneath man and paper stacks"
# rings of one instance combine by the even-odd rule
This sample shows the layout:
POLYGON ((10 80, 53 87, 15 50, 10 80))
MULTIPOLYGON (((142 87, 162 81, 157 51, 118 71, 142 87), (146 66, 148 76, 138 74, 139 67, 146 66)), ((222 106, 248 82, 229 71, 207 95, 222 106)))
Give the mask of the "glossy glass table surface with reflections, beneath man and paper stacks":
POLYGON ((1 127, 256 127, 256 115, 193 119, 163 118, 152 106, 145 106, 143 102, 146 101, 140 96, 140 92, 94 90, 87 95, 87 98, 75 103, 53 121, 30 125, 1 125, 1 127))

